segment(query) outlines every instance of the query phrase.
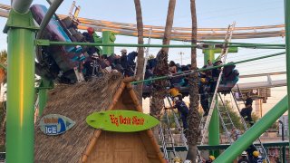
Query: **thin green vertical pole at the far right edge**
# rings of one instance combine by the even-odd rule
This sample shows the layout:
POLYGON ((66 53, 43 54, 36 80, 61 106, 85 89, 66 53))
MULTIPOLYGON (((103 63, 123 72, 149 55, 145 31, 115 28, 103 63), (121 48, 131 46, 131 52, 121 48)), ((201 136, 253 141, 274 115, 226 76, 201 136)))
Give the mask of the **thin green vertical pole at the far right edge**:
MULTIPOLYGON (((286 75, 287 75, 287 94, 290 94, 290 0, 284 1, 285 7, 285 45, 286 45, 286 75)), ((290 106, 290 96, 288 96, 288 106, 290 106)), ((290 124, 290 108, 288 109, 288 124, 290 124)), ((288 125, 290 131, 290 125, 288 125)), ((288 132, 289 133, 289 132, 288 132)), ((290 139, 290 134, 288 134, 290 139)))

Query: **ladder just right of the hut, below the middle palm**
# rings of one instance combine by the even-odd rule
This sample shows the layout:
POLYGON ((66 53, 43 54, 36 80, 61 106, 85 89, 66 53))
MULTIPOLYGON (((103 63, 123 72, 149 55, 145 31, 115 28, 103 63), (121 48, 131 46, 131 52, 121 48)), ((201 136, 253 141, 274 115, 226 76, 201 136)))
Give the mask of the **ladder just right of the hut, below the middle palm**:
POLYGON ((165 108, 164 102, 164 115, 163 119, 160 120, 160 140, 162 143, 162 149, 164 152, 164 158, 170 160, 170 154, 172 153, 174 158, 177 156, 174 146, 174 138, 170 129, 170 121, 168 110, 165 108), (167 149, 167 148, 170 149, 167 149))

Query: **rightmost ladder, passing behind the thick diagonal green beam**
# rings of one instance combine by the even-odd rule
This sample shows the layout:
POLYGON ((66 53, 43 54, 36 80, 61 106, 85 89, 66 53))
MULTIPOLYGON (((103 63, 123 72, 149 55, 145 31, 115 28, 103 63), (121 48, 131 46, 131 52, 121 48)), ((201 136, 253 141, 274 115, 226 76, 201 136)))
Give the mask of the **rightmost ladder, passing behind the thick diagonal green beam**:
MULTIPOLYGON (((238 88, 238 85, 237 85, 237 92, 238 93, 240 93, 240 90, 239 90, 239 88, 238 88)), ((231 95, 233 96, 233 99, 234 99, 234 101, 235 101, 235 104, 236 104, 236 107, 237 107, 237 110, 238 110, 238 112, 240 112, 240 109, 239 109, 239 107, 238 107, 238 104, 237 104, 237 98, 236 98, 236 96, 235 96, 235 94, 233 93, 233 91, 231 91, 231 95)), ((245 101, 243 101, 244 102, 244 104, 245 104, 245 101)), ((242 124, 243 124, 243 126, 244 126, 244 129, 245 130, 247 130, 247 123, 246 123, 246 121, 244 120, 244 118, 240 115, 240 114, 238 114, 239 116, 240 116, 240 118, 241 118, 241 121, 242 121, 242 124)), ((258 146, 256 145, 254 145, 255 146, 255 148, 257 149, 257 150, 259 150, 259 152, 262 154, 262 155, 265 155, 265 158, 266 158, 266 161, 268 162, 268 163, 270 163, 270 159, 269 159, 269 157, 268 157, 268 155, 267 155, 267 153, 266 153, 266 149, 265 149, 265 147, 264 147, 264 145, 263 145, 263 143, 262 143, 262 141, 261 141, 261 139, 260 139, 260 137, 258 137, 257 138, 257 141, 258 141, 258 146)))

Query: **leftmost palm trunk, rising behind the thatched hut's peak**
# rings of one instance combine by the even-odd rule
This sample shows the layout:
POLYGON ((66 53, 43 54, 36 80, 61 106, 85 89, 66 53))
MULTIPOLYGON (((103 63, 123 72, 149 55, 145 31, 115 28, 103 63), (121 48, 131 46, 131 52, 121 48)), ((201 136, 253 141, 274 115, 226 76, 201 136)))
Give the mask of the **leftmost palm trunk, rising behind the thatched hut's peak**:
MULTIPOLYGON (((142 20, 142 9, 140 5, 140 0, 134 0, 135 10, 136 10, 136 21, 137 21, 137 30, 138 30, 138 44, 143 44, 143 20, 142 20)), ((143 80, 143 69, 144 69, 144 48, 138 48, 137 56, 137 72, 136 76, 139 80, 143 80)), ((142 105, 142 88, 143 83, 140 82, 137 85, 137 92, 140 95, 140 105, 142 105)))

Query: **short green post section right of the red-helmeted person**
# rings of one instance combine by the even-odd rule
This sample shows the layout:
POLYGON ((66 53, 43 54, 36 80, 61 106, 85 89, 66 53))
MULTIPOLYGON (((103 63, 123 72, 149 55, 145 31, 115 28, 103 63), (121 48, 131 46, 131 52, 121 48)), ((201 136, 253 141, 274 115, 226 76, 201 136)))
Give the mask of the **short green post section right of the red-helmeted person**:
MULTIPOLYGON (((115 40, 116 36, 111 31, 102 32, 102 43, 114 43, 115 40)), ((114 53, 114 47, 102 46, 102 53, 107 54, 109 56, 112 53, 114 53)))

